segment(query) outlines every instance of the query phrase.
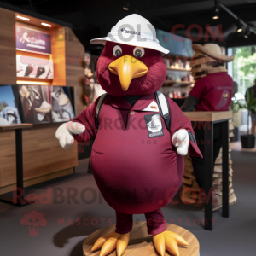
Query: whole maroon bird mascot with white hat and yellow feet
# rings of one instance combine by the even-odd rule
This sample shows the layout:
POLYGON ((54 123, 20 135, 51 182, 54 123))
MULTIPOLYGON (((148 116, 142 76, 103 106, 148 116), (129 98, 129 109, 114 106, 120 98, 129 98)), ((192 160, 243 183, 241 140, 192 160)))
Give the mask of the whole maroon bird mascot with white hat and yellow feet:
POLYGON ((160 210, 183 179, 183 155, 201 157, 191 123, 177 104, 158 92, 166 79, 154 26, 140 15, 129 15, 113 26, 97 62, 97 79, 107 93, 56 131, 62 148, 74 140, 95 139, 91 169, 104 199, 116 212, 116 230, 99 238, 92 251, 101 256, 125 252, 132 214, 145 214, 154 247, 178 255, 183 237, 166 231, 160 210), (168 190, 171 193, 168 193, 168 190), (166 196, 166 193, 168 196, 166 196), (166 198, 167 197, 167 198, 166 198), (152 220, 152 221, 149 221, 152 220), (154 221, 157 220, 157 221, 154 221))

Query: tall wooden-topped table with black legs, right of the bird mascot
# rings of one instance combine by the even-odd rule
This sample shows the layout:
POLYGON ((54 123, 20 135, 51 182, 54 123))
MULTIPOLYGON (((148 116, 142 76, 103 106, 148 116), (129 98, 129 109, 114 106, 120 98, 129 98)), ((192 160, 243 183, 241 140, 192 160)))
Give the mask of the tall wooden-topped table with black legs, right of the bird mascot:
MULTIPOLYGON (((228 218, 229 213, 229 120, 232 118, 232 111, 220 112, 183 112, 191 122, 201 122, 205 125, 205 193, 211 197, 209 202, 205 203, 205 218, 207 224, 206 230, 212 230, 212 173, 213 173, 213 129, 214 124, 222 123, 223 141, 222 141, 222 175, 223 175, 223 207, 222 216, 228 218)), ((198 125, 198 124, 197 124, 198 125)))

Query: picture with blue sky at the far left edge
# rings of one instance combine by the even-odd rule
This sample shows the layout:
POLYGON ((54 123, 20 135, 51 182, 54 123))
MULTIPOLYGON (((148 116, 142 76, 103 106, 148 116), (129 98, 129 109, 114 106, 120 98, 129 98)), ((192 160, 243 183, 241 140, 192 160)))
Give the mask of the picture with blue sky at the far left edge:
POLYGON ((12 86, 0 86, 0 125, 15 125, 20 123, 20 113, 16 106, 12 86))

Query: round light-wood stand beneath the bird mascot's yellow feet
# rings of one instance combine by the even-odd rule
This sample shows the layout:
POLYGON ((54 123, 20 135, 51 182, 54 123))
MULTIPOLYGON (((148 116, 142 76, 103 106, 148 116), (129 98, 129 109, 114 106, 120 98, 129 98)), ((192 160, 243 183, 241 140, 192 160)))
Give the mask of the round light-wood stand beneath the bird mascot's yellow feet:
MULTIPOLYGON (((95 243, 95 241, 109 232, 113 231, 115 229, 115 224, 103 228, 101 230, 96 230, 94 233, 92 233, 90 236, 88 236, 84 240, 83 244, 83 255, 84 256, 98 256, 100 255, 100 250, 96 251, 94 253, 91 253, 91 247, 95 243)), ((189 243, 188 247, 178 247, 179 255, 180 256, 199 256, 199 242, 196 239, 196 237, 190 233, 188 230, 185 230, 181 227, 178 227, 174 224, 167 224, 167 229, 172 232, 177 233, 180 236, 183 236, 183 238, 189 243)), ((129 245, 123 254, 123 256, 159 256, 159 254, 154 249, 154 245, 152 242, 151 235, 148 235, 147 231, 147 224, 145 221, 137 221, 133 223, 133 228, 130 233, 130 241, 129 245)), ((113 251, 113 253, 108 254, 109 256, 116 256, 116 252, 113 251)), ((165 255, 172 255, 171 253, 165 253, 165 255)))

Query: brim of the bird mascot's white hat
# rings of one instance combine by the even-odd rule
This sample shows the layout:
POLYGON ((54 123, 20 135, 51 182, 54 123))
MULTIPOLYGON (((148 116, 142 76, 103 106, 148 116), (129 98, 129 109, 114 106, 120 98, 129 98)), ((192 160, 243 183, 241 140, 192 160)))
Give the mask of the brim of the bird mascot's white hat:
POLYGON ((161 55, 166 55, 166 54, 169 53, 169 50, 165 49, 162 46, 160 46, 160 44, 157 44, 155 42, 147 42, 147 41, 142 41, 142 42, 136 41, 135 42, 135 41, 131 40, 131 42, 123 42, 121 40, 113 41, 112 38, 105 37, 105 38, 91 39, 90 40, 90 44, 103 44, 103 45, 105 45, 107 41, 114 42, 114 43, 117 43, 117 44, 127 44, 127 45, 131 45, 131 46, 137 46, 137 47, 143 47, 143 48, 148 48, 148 49, 154 49, 154 50, 160 51, 161 55))

